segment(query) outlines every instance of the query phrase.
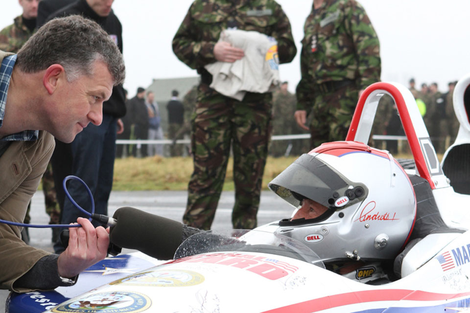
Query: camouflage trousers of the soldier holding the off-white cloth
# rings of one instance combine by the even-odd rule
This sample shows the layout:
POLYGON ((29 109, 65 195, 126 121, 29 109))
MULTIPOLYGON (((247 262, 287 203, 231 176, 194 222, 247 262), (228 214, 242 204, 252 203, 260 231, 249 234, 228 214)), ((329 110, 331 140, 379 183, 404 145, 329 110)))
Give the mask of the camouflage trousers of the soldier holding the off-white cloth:
POLYGON ((235 229, 253 229, 271 133, 272 95, 247 94, 243 101, 225 97, 201 84, 192 115, 194 172, 188 184, 183 222, 210 229, 222 192, 232 146, 235 229))

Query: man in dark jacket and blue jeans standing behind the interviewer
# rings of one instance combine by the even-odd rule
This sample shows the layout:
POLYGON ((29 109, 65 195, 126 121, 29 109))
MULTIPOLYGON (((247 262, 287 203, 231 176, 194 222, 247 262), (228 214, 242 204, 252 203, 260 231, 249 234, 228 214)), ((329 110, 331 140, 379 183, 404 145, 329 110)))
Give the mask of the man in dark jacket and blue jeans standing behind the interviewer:
MULTIPOLYGON (((122 53, 122 26, 111 9, 113 0, 76 0, 70 5, 51 14, 47 21, 56 17, 81 15, 97 22, 118 45, 122 53)), ((94 197, 95 213, 108 213, 108 199, 113 185, 113 170, 116 151, 116 129, 122 132, 122 122, 118 119, 126 113, 124 89, 115 86, 111 98, 103 103, 103 121, 101 125, 90 125, 75 137, 63 149, 62 155, 52 159, 54 180, 62 182, 69 174, 78 176, 90 187, 94 197), (67 164, 68 163, 68 164, 67 164), (66 164, 66 166, 64 166, 66 164), (68 167, 70 166, 70 167, 68 167), (56 167, 59 167, 56 170, 56 167), (68 168, 67 168, 68 167, 68 168)), ((90 98, 93 102, 94 99, 90 98)), ((87 192, 79 182, 68 185, 69 193, 82 208, 90 211, 91 204, 87 192)), ((69 199, 63 202, 61 223, 69 224, 84 216, 69 199)), ((64 248, 60 242, 54 246, 55 252, 64 248)))

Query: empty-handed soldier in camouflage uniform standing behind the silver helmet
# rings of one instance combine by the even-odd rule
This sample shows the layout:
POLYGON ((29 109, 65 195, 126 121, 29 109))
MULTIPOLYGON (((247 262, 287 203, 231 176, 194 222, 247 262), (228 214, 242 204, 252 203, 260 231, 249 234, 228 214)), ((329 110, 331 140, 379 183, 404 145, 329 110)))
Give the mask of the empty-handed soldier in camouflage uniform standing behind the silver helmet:
POLYGON ((346 138, 359 91, 380 80, 379 42, 355 0, 315 0, 304 32, 295 116, 308 129, 313 115, 313 148, 346 138))

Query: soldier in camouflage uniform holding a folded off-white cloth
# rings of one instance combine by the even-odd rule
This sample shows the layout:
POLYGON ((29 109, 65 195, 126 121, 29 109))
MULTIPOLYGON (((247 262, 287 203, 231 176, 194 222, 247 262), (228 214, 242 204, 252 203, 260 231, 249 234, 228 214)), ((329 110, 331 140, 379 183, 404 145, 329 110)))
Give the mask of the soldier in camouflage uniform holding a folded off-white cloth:
POLYGON ((234 155, 234 228, 257 226, 261 181, 271 130, 272 94, 248 92, 242 101, 211 89, 204 66, 235 62, 241 49, 217 42, 222 30, 234 28, 272 36, 278 42, 280 63, 292 61, 296 47, 289 20, 274 0, 195 0, 173 39, 173 51, 201 74, 191 121, 194 172, 188 184, 183 221, 210 229, 232 144, 234 155))

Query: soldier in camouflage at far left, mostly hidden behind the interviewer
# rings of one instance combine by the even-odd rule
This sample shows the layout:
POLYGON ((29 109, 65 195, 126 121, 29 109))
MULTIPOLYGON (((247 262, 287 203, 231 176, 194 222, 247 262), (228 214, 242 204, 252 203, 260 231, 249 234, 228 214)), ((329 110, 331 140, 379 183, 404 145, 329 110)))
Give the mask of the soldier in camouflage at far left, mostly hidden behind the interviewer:
MULTIPOLYGON (((36 16, 38 12, 39 0, 20 0, 23 7, 23 14, 13 20, 13 24, 6 26, 0 31, 0 50, 16 53, 24 43, 34 33, 36 27, 36 16)), ((46 213, 50 216, 49 224, 58 224, 60 222, 60 208, 57 202, 54 179, 52 177, 52 167, 47 165, 46 172, 43 175, 43 192, 46 202, 46 213)), ((29 224, 31 217, 29 203, 24 223, 29 224)), ((24 228, 24 241, 28 242, 27 230, 24 228)), ((59 228, 52 228, 52 241, 60 232, 59 228)))

